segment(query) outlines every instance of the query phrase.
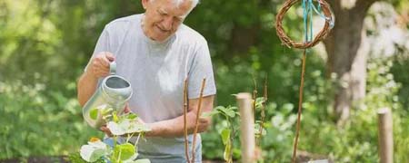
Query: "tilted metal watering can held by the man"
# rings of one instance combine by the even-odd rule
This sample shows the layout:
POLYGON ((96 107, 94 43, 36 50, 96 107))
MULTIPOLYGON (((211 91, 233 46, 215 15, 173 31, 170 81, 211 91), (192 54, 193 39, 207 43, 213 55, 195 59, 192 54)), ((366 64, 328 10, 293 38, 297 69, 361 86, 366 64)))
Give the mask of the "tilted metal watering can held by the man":
POLYGON ((119 114, 125 110, 125 104, 133 92, 130 82, 122 76, 115 75, 115 62, 110 62, 109 72, 110 75, 104 78, 83 107, 84 119, 97 129, 105 124, 105 116, 111 115, 112 111, 119 114))

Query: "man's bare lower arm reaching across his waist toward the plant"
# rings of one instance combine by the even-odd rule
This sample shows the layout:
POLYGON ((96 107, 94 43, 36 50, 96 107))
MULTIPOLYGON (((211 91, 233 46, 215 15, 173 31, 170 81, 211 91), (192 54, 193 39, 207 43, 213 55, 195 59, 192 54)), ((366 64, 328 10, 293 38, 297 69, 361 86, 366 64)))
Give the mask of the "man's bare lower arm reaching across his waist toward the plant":
MULTIPOLYGON (((209 112, 213 109, 214 96, 206 96, 202 99, 201 112, 209 112)), ((196 113, 199 99, 189 100, 186 114, 187 132, 191 134, 195 130, 196 113)), ((211 117, 201 118, 199 115, 198 133, 204 132, 211 123, 211 117)), ((146 133, 148 137, 182 137, 185 135, 184 115, 171 120, 163 120, 148 124, 152 130, 146 133)))

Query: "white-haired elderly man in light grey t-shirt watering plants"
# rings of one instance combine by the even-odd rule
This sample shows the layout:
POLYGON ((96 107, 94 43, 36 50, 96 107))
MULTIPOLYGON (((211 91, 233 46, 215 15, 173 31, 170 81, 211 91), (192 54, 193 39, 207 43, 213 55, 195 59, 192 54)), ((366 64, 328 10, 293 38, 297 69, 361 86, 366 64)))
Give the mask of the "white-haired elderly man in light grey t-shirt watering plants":
MULTIPOLYGON (((187 129, 195 127, 201 82, 206 78, 202 110, 213 108, 215 84, 205 38, 183 24, 198 0, 142 0, 145 14, 135 14, 105 25, 93 57, 78 82, 81 105, 92 96, 98 81, 116 72, 131 82, 134 95, 129 109, 137 113, 152 131, 138 143, 139 158, 152 162, 186 162, 184 146, 184 81, 188 79, 187 129)), ((199 119, 199 132, 209 118, 199 119)), ((106 132, 106 128, 104 128, 106 132)), ((135 139, 134 139, 135 140, 135 139)), ((191 144, 193 136, 189 135, 191 144)), ((201 162, 201 139, 197 139, 195 160, 201 162)))

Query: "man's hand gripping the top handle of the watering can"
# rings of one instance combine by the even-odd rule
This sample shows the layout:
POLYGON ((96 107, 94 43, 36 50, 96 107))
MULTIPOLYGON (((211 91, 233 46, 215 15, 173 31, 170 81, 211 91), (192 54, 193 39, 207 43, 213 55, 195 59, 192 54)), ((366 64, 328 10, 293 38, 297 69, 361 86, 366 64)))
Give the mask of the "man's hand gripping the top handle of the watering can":
POLYGON ((109 63, 115 61, 113 53, 101 52, 96 54, 86 69, 86 73, 92 75, 95 79, 109 75, 109 63))

